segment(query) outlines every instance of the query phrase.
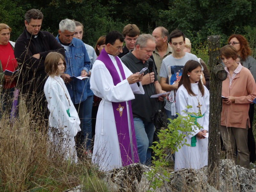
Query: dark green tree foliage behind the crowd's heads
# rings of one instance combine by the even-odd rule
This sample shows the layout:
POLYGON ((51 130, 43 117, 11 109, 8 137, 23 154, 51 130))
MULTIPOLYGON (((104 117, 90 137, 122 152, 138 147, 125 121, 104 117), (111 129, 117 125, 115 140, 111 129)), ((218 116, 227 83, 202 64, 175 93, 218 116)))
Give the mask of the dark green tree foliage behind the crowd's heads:
POLYGON ((180 29, 197 50, 205 48, 207 36, 220 35, 224 45, 233 33, 245 35, 254 47, 254 7, 255 0, 0 0, 0 21, 12 28, 12 41, 23 31, 26 11, 35 8, 44 14, 41 30, 57 36, 60 20, 75 19, 84 24, 83 40, 92 46, 101 35, 132 23, 142 33, 157 26, 180 29))

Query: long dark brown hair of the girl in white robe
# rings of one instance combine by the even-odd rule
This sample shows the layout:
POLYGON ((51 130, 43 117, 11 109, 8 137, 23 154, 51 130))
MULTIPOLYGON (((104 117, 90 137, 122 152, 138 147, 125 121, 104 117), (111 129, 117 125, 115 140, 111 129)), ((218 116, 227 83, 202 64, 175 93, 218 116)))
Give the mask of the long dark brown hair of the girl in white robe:
MULTIPOLYGON (((191 72, 192 70, 196 69, 197 67, 202 68, 201 64, 198 61, 188 60, 183 68, 181 79, 180 79, 179 86, 178 86, 178 88, 179 88, 183 84, 185 89, 188 91, 188 94, 191 96, 196 96, 196 94, 191 89, 191 83, 189 80, 188 72, 191 72)), ((201 81, 198 82, 198 87, 199 87, 200 92, 202 93, 202 96, 204 96, 204 85, 202 84, 201 81)))

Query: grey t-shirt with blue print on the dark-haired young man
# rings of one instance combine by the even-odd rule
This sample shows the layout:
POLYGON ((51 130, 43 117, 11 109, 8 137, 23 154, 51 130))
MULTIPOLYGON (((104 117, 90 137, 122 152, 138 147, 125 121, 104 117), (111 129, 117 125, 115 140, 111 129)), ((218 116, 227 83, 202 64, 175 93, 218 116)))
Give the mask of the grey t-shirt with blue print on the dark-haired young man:
MULTIPOLYGON (((185 56, 181 59, 175 59, 172 55, 167 56, 162 62, 159 76, 167 78, 167 83, 172 85, 174 81, 180 80, 183 67, 188 60, 198 61, 196 55, 191 53, 185 53, 185 56)), ((164 108, 168 111, 172 111, 171 107, 172 102, 169 101, 168 96, 164 108)))

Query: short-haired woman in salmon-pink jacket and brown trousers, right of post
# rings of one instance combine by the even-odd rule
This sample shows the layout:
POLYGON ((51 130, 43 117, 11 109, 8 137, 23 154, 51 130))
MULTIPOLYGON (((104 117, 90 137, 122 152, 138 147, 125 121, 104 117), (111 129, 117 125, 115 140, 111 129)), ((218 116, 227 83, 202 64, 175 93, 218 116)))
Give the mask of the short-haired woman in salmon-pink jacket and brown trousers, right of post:
POLYGON ((236 62, 237 51, 232 45, 220 49, 222 62, 228 77, 222 82, 222 111, 220 133, 226 149, 226 157, 249 168, 247 132, 250 127, 249 104, 256 97, 256 84, 249 69, 236 62))

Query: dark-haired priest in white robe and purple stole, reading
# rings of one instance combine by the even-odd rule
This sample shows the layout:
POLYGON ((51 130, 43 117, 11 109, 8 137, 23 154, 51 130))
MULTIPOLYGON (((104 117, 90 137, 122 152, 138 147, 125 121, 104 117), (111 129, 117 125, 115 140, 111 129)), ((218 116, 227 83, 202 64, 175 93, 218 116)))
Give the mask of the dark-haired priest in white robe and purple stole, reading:
POLYGON ((93 64, 91 90, 102 98, 96 118, 92 162, 108 171, 139 162, 131 101, 144 94, 143 75, 132 72, 117 57, 124 37, 117 31, 106 36, 106 46, 93 64))

